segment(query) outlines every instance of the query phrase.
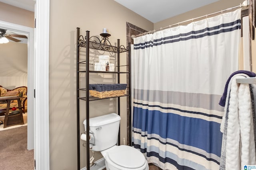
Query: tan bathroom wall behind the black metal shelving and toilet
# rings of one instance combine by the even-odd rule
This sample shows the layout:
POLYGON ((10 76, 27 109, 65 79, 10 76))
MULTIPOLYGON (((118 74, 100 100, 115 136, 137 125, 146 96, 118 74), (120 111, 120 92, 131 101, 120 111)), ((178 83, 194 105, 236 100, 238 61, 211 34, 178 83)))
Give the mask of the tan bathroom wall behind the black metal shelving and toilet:
MULTIPOLYGON (((91 36, 99 36, 102 28, 108 28, 112 45, 120 39, 120 44, 126 46, 126 21, 146 30, 154 27, 152 22, 113 0, 63 0, 61 4, 58 0, 50 1, 50 169, 76 169, 76 27, 81 28, 82 35, 89 30, 91 36)), ((90 52, 91 57, 99 55, 95 50, 90 52)), ((84 84, 84 78, 81 80, 84 84)), ((100 75, 91 74, 90 83, 96 81, 112 82, 112 78, 100 80, 100 75)), ((115 103, 114 99, 90 102, 90 117, 115 112, 115 103)), ((121 104, 126 107, 125 97, 121 104)), ((85 109, 85 102, 80 102, 80 108, 85 109)), ((126 138, 126 109, 122 110, 121 139, 126 138)), ((84 111, 80 114, 81 132, 85 117, 84 111)), ((82 147, 82 142, 80 146, 82 168, 86 166, 86 148, 82 147)), ((97 160, 102 156, 96 153, 95 157, 97 160)))

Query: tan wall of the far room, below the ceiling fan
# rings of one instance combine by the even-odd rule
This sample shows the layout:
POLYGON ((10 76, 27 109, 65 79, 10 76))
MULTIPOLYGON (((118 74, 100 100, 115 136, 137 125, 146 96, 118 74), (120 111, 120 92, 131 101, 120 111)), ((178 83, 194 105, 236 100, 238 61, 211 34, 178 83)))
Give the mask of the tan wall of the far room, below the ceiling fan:
POLYGON ((27 86, 28 45, 9 42, 0 44, 0 85, 13 89, 27 86))

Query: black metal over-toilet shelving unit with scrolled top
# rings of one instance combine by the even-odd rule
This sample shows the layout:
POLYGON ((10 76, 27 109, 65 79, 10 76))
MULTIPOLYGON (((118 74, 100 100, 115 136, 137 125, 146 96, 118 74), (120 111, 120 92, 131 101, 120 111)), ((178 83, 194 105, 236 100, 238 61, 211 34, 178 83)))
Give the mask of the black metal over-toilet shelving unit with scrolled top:
MULTIPOLYGON (((117 83, 120 83, 120 74, 128 74, 128 90, 127 90, 127 94, 124 96, 127 96, 129 99, 129 120, 130 120, 130 133, 129 133, 129 137, 130 137, 130 144, 131 144, 131 96, 130 96, 130 86, 131 86, 131 77, 130 77, 130 63, 131 63, 131 59, 130 59, 130 43, 129 46, 127 48, 125 48, 123 45, 120 45, 120 39, 117 40, 117 47, 116 46, 112 46, 110 44, 110 42, 108 41, 108 35, 107 37, 102 37, 102 40, 100 40, 98 37, 96 36, 92 36, 90 37, 90 31, 86 31, 86 36, 82 36, 80 35, 80 28, 77 27, 77 48, 76 48, 76 70, 77 70, 77 74, 76 74, 76 96, 77 96, 77 100, 76 100, 76 108, 77 108, 77 169, 80 170, 80 113, 84 113, 82 111, 80 111, 80 101, 85 101, 86 102, 86 132, 89 132, 90 129, 90 124, 89 124, 89 115, 90 115, 90 106, 89 106, 89 102, 90 101, 94 101, 94 100, 101 100, 100 98, 96 98, 96 97, 91 97, 89 96, 89 77, 90 77, 90 73, 109 73, 109 74, 117 74, 117 83), (96 40, 95 40, 96 39, 96 40), (110 45, 108 45, 107 43, 109 43, 110 45), (84 47, 86 48, 86 61, 80 61, 80 47, 84 47), (89 61, 89 55, 90 55, 90 50, 89 49, 96 49, 96 50, 100 50, 100 51, 108 51, 108 52, 112 52, 112 53, 117 53, 117 71, 114 72, 110 72, 110 71, 92 71, 89 70, 89 65, 90 63, 87 62, 89 61), (124 53, 124 52, 128 52, 128 71, 127 72, 120 72, 120 53, 124 53), (80 64, 85 64, 86 65, 86 70, 80 70, 80 64), (86 87, 85 88, 80 88, 79 85, 79 78, 80 78, 80 72, 85 72, 86 73, 86 87), (80 91, 85 91, 86 92, 86 96, 82 96, 80 97, 79 92, 80 91)), ((102 35, 102 34, 101 34, 102 35)), ((117 98, 117 108, 118 108, 118 115, 120 115, 120 97, 114 97, 117 98)), ((89 139, 89 133, 86 133, 86 139, 89 139)), ((119 127, 119 133, 118 133, 118 145, 120 145, 120 127, 119 127)), ((90 170, 90 143, 86 142, 86 169, 90 170)))

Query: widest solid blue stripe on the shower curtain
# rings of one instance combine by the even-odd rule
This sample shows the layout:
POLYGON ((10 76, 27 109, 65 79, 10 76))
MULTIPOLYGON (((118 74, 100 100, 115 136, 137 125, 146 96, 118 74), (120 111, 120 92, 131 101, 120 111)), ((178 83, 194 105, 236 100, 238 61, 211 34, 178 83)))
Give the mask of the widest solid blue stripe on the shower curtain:
MULTIPOLYGON (((148 134, 158 134, 162 138, 174 139, 180 144, 220 156, 222 141, 218 139, 222 139, 222 133, 216 131, 220 129, 219 123, 138 107, 134 107, 133 122, 135 128, 147 131, 148 134)), ((216 163, 219 164, 218 161, 216 163)))

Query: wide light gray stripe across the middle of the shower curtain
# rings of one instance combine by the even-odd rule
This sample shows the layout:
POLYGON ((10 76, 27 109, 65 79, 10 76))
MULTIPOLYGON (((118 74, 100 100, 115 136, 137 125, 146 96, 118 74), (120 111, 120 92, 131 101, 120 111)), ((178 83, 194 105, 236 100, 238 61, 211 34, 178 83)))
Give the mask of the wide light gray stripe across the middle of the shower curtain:
POLYGON ((134 89, 134 99, 137 100, 224 111, 224 107, 218 104, 220 98, 221 95, 216 94, 134 89))

